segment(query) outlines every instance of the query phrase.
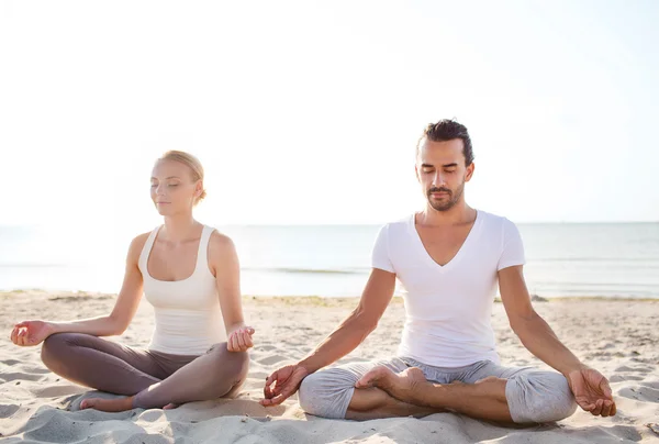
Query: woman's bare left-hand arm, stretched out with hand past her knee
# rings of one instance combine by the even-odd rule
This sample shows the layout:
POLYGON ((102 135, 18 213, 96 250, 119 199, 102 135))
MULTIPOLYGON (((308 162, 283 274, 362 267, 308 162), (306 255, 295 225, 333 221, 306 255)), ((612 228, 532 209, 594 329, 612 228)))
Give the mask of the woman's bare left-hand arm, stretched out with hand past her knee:
POLYGON ((14 325, 11 340, 16 345, 37 345, 55 333, 87 333, 94 336, 122 334, 135 315, 142 298, 143 280, 137 266, 148 233, 131 242, 124 281, 112 313, 79 321, 23 321, 14 325))

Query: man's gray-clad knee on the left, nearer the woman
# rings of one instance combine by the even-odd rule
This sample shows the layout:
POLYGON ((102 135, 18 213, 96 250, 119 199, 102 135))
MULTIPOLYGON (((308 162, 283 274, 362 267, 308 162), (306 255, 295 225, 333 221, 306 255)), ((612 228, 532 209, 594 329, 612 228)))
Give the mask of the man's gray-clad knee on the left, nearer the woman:
POLYGON ((298 400, 306 413, 323 418, 344 419, 347 403, 344 409, 339 398, 342 395, 345 397, 345 393, 342 392, 350 390, 355 382, 351 386, 342 384, 340 380, 333 378, 331 373, 332 369, 323 370, 304 378, 298 390, 298 400))

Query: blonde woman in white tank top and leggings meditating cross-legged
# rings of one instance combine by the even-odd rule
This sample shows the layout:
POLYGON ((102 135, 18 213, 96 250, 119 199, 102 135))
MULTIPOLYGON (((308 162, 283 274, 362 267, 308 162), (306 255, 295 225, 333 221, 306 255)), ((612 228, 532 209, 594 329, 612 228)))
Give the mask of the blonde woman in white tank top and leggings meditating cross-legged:
POLYGON ((205 197, 203 168, 171 151, 153 170, 150 196, 165 223, 135 237, 110 315, 71 322, 16 324, 16 345, 44 342, 42 359, 54 373, 118 395, 86 399, 81 409, 123 411, 233 397, 247 375, 254 329, 245 325, 239 268, 231 238, 197 222, 192 208, 205 197), (122 334, 142 293, 154 306, 148 349, 98 336, 122 334))

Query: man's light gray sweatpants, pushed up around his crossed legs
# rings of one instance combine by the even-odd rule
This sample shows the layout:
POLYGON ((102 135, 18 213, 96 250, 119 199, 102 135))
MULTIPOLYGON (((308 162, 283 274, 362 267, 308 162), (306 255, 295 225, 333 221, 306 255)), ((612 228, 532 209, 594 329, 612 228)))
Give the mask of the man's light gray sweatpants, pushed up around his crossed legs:
POLYGON ((507 379, 505 398, 516 423, 559 421, 577 410, 567 379, 556 371, 503 367, 491 360, 465 367, 433 367, 409 357, 346 364, 309 375, 300 386, 300 406, 305 412, 317 417, 345 418, 355 392, 355 382, 377 365, 383 365, 394 373, 418 367, 427 380, 437 384, 473 384, 489 376, 507 379))

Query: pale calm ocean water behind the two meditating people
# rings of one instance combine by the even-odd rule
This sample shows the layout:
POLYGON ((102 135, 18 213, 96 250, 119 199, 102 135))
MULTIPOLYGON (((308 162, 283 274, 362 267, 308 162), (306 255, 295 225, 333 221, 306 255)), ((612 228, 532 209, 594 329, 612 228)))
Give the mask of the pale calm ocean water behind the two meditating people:
MULTIPOLYGON (((359 296, 379 230, 379 225, 216 226, 234 240, 242 292, 254 296, 359 296)), ((659 299, 659 223, 517 226, 533 295, 659 299)), ((118 292, 130 240, 112 231, 0 226, 0 290, 118 292)))

